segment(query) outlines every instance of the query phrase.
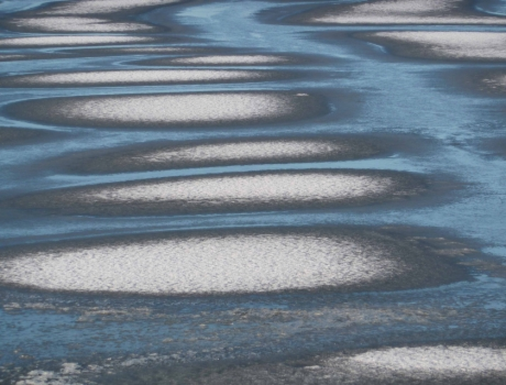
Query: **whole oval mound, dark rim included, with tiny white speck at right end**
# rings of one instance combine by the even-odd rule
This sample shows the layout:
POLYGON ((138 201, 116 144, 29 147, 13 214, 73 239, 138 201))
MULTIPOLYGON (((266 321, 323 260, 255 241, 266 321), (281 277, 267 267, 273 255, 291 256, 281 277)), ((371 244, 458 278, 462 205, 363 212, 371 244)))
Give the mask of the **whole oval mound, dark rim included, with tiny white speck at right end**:
POLYGON ((288 122, 329 112, 323 98, 284 91, 51 98, 14 103, 20 119, 64 126, 227 126, 288 122))

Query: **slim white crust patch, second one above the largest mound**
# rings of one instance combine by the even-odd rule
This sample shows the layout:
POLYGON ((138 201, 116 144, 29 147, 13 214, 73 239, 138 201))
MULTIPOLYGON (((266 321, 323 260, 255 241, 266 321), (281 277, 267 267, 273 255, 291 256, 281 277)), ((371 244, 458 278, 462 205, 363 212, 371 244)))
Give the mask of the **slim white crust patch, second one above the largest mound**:
POLYGON ((346 146, 326 141, 262 141, 249 143, 207 144, 179 148, 175 150, 155 151, 151 154, 135 157, 145 162, 185 162, 207 160, 241 160, 290 158, 298 156, 327 155, 346 150, 346 146))

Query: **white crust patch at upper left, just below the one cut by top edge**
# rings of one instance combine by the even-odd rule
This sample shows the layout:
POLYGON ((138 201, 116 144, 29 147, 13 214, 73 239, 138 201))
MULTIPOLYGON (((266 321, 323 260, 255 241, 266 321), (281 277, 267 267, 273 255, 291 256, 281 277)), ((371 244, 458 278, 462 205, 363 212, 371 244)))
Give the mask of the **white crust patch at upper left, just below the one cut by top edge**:
POLYGON ((153 27, 140 23, 117 23, 86 17, 34 17, 13 19, 11 24, 51 32, 129 32, 148 31, 153 27))

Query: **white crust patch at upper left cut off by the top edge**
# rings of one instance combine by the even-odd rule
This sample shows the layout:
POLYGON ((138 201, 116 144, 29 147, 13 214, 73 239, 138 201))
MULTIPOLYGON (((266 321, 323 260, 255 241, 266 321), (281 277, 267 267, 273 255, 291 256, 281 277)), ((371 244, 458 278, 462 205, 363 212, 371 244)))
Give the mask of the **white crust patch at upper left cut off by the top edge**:
POLYGON ((50 15, 89 15, 128 11, 138 7, 164 6, 180 3, 182 0, 80 0, 56 5, 42 12, 50 15))

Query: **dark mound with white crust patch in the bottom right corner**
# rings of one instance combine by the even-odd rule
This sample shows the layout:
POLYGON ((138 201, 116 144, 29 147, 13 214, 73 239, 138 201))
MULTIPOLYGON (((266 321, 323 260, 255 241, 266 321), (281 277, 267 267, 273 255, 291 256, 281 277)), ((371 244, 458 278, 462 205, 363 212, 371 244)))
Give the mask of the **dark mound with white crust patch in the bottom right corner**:
POLYGON ((97 382, 107 385, 164 385, 173 380, 195 385, 503 385, 505 359, 503 339, 448 341, 440 345, 385 347, 253 363, 230 360, 170 365, 167 359, 148 365, 149 360, 139 360, 137 366, 102 375, 97 382))

